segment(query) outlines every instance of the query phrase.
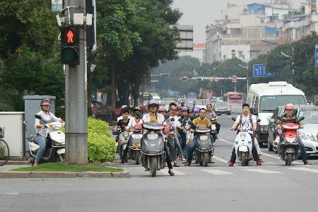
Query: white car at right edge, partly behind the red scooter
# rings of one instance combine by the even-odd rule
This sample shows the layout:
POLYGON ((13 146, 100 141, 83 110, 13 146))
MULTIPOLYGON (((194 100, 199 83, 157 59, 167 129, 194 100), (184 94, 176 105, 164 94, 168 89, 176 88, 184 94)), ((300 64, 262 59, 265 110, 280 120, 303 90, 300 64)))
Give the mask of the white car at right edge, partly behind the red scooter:
POLYGON ((300 139, 304 143, 307 155, 318 154, 318 106, 303 105, 298 110, 298 117, 305 117, 299 129, 300 139))

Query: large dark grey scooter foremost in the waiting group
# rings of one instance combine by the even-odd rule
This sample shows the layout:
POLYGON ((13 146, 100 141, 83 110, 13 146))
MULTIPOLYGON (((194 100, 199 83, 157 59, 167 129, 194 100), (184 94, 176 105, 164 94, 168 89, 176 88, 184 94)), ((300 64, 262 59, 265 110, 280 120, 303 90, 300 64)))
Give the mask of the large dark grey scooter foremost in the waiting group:
POLYGON ((147 132, 141 139, 141 164, 150 171, 151 177, 155 177, 157 170, 165 167, 165 141, 160 134, 164 125, 158 122, 143 122, 142 125, 147 132))

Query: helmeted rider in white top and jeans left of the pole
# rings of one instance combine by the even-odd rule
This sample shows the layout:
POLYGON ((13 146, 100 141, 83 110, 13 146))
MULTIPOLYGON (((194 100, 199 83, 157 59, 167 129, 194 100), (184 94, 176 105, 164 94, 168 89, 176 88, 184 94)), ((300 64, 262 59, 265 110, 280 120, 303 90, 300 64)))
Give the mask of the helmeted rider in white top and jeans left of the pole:
POLYGON ((37 133, 35 142, 40 146, 39 150, 37 151, 37 155, 35 156, 35 161, 33 166, 37 166, 39 164, 39 161, 45 152, 45 148, 47 145, 47 141, 51 141, 51 138, 49 137, 49 127, 45 128, 45 124, 49 124, 52 122, 63 122, 62 119, 57 118, 52 114, 52 112, 49 112, 49 109, 52 105, 51 100, 44 98, 40 102, 41 111, 37 114, 41 116, 42 120, 35 119, 35 131, 37 133))

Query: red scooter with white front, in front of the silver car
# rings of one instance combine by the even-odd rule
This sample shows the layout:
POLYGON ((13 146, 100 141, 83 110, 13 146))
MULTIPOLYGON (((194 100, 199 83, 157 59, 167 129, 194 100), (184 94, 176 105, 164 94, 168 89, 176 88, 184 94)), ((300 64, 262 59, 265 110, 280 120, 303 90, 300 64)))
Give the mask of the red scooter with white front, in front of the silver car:
MULTIPOLYGON (((305 117, 300 117, 299 120, 302 121, 303 119, 305 119, 305 117)), ((285 165, 290 166, 292 162, 298 160, 300 156, 300 143, 298 142, 297 131, 299 128, 299 124, 281 124, 283 142, 278 143, 278 155, 281 156, 281 160, 285 161, 285 165)))

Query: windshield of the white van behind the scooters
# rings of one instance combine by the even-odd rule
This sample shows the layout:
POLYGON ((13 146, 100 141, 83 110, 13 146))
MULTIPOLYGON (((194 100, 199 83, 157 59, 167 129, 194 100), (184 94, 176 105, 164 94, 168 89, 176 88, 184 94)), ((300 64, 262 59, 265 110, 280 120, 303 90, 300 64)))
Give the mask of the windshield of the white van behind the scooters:
POLYGON ((273 112, 276 107, 292 103, 294 105, 306 105, 303 95, 264 95, 259 102, 259 112, 273 112))

